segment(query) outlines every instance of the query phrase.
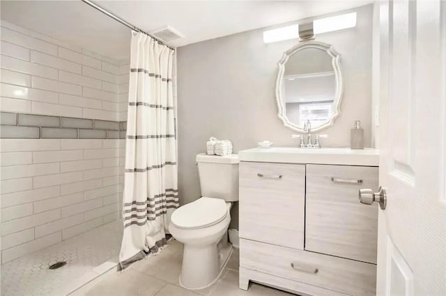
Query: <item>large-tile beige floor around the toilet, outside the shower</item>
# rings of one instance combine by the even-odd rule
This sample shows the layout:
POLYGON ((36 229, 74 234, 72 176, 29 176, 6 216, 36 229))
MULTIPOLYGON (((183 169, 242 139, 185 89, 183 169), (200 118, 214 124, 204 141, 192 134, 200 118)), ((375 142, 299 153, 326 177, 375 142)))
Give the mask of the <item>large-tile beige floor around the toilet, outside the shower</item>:
POLYGON ((289 293, 251 283, 247 291, 238 288, 238 249, 233 249, 233 255, 226 264, 220 279, 203 290, 186 290, 180 287, 180 275, 183 245, 170 240, 169 247, 156 256, 150 256, 130 266, 126 272, 108 272, 107 275, 77 290, 72 295, 87 296, 285 296, 289 293))

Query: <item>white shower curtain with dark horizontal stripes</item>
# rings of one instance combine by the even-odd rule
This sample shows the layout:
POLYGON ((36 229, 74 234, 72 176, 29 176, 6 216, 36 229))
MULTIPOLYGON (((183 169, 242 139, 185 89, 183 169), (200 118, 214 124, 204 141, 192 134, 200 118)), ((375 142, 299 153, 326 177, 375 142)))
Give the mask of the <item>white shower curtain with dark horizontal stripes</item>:
POLYGON ((178 207, 174 50, 132 32, 120 268, 167 243, 178 207))

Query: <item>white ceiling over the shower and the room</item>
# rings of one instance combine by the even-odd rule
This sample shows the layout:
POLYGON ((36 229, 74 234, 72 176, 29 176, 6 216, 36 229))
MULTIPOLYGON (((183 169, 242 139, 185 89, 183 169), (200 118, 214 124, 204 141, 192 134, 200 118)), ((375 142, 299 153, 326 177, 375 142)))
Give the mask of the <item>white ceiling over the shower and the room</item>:
MULTIPOLYGON (((126 21, 153 31, 172 26, 185 38, 209 40, 334 13, 372 1, 96 1, 126 21)), ((1 19, 118 60, 128 58, 129 29, 79 1, 1 1, 1 19)))

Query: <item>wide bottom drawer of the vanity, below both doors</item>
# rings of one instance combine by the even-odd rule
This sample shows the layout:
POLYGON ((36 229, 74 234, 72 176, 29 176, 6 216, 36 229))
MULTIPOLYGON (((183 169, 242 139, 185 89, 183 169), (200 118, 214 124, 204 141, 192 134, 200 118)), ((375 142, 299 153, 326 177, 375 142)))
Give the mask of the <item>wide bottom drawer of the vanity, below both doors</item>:
POLYGON ((374 264, 252 240, 240 239, 240 268, 349 295, 375 295, 376 291, 374 264))

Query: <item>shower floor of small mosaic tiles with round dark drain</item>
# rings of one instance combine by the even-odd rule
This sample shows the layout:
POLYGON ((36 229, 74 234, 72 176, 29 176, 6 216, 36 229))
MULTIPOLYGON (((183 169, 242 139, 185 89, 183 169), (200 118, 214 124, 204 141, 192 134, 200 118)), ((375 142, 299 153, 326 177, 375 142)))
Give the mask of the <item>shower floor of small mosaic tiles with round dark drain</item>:
POLYGON ((116 267, 122 233, 116 220, 1 265, 1 295, 67 295, 116 267))

